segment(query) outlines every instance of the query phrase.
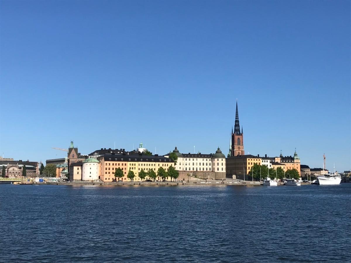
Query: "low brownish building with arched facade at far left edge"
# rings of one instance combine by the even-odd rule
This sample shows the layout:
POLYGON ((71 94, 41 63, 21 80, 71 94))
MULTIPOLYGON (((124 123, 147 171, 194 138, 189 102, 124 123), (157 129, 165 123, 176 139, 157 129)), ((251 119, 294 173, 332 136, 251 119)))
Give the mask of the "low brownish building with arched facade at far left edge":
POLYGON ((13 158, 0 159, 0 174, 1 176, 8 177, 22 177, 23 167, 26 167, 26 176, 32 177, 39 174, 39 163, 32 161, 15 161, 13 158), (5 167, 5 175, 2 175, 2 167, 5 167))

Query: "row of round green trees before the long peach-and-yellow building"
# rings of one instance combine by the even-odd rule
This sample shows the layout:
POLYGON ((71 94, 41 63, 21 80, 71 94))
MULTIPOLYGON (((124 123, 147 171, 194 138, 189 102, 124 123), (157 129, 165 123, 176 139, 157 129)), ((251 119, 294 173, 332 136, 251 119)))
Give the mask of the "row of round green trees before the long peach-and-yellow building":
MULTIPOLYGON (((171 181, 172 181, 173 179, 177 179, 178 178, 179 172, 173 166, 170 166, 168 168, 168 171, 166 171, 163 167, 160 167, 157 170, 157 174, 154 172, 153 169, 150 169, 147 172, 145 172, 144 169, 141 169, 140 172, 139 172, 139 178, 142 181, 145 180, 146 177, 148 177, 148 178, 150 178, 152 180, 155 180, 157 176, 160 177, 162 180, 165 180, 166 177, 171 177, 171 181)), ((114 177, 118 178, 118 180, 119 180, 119 178, 124 177, 123 170, 118 167, 114 171, 114 177)), ((135 177, 134 171, 129 170, 128 174, 127 174, 127 178, 132 181, 134 179, 134 177, 135 177)))

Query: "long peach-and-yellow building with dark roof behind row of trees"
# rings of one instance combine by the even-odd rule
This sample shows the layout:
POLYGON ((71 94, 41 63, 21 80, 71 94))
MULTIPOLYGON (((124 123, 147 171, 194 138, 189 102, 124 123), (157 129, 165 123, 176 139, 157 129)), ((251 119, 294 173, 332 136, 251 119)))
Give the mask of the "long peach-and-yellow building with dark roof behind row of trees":
MULTIPOLYGON (((135 174, 134 181, 141 181, 139 178, 139 173, 141 169, 145 172, 148 172, 152 169, 156 174, 158 168, 163 167, 165 171, 168 171, 168 168, 174 166, 174 161, 165 156, 155 155, 144 155, 142 153, 127 153, 127 154, 105 154, 98 158, 100 161, 99 165, 99 178, 104 182, 115 181, 114 172, 116 169, 121 168, 124 176, 120 177, 121 181, 129 181, 127 178, 128 171, 133 171, 135 174)), ((150 178, 146 178, 150 179, 150 178)), ((170 180, 171 178, 166 178, 170 180)), ((160 181, 161 178, 156 177, 156 180, 160 181)))

